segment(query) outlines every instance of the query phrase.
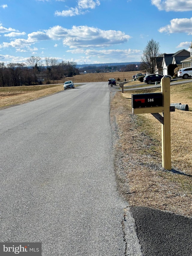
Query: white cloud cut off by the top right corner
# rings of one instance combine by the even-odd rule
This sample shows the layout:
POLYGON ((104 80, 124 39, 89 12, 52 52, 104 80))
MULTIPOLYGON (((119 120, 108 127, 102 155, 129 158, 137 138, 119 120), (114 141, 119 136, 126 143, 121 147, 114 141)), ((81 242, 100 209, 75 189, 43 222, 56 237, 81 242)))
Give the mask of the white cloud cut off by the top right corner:
POLYGON ((160 11, 192 11, 192 0, 151 0, 160 11))

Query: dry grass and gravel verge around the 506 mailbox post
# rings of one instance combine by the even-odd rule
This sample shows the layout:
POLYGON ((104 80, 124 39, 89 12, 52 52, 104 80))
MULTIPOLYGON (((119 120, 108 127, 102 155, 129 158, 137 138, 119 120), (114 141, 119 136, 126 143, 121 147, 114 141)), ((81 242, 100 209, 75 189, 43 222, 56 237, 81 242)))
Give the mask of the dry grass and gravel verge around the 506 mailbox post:
POLYGON ((120 134, 116 148, 122 161, 117 167, 122 193, 131 206, 192 217, 192 84, 170 87, 171 103, 189 105, 188 112, 171 112, 172 171, 162 168, 161 123, 151 114, 132 114, 131 94, 160 91, 118 92, 111 103, 120 134))

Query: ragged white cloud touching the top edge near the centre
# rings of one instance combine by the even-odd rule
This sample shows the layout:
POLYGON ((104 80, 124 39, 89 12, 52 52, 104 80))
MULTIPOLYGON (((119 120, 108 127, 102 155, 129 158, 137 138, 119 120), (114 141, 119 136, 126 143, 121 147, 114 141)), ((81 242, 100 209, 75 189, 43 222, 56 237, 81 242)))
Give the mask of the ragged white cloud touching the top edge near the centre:
POLYGON ((68 10, 63 11, 55 11, 55 16, 72 17, 80 14, 85 14, 87 12, 87 9, 95 9, 96 6, 99 5, 100 2, 98 0, 79 0, 75 8, 69 8, 68 10))

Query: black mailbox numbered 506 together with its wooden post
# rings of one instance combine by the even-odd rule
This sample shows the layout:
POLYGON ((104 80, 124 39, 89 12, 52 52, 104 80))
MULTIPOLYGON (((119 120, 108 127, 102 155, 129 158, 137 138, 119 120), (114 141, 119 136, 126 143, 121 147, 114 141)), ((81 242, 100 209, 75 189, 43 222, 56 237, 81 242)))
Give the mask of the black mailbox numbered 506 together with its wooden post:
POLYGON ((170 112, 175 111, 175 107, 170 107, 170 78, 163 77, 161 79, 160 93, 132 94, 131 104, 134 114, 151 113, 161 122, 162 166, 166 170, 171 170, 170 112))

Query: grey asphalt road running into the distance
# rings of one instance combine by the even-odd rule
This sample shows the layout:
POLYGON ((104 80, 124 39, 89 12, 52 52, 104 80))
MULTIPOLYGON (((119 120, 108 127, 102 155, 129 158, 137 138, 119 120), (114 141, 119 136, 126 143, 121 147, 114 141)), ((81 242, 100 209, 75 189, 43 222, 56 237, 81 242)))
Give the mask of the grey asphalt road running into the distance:
POLYGON ((0 110, 0 242, 42 242, 43 256, 141 255, 118 194, 109 103, 107 83, 89 83, 0 110))

